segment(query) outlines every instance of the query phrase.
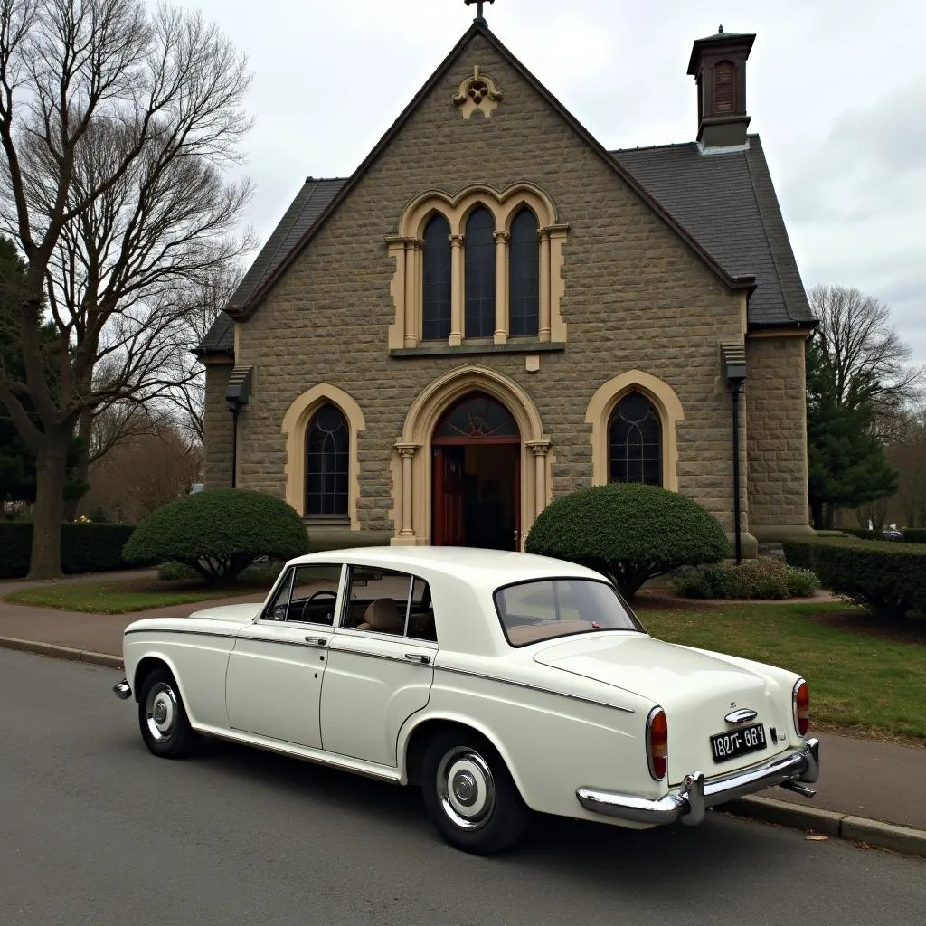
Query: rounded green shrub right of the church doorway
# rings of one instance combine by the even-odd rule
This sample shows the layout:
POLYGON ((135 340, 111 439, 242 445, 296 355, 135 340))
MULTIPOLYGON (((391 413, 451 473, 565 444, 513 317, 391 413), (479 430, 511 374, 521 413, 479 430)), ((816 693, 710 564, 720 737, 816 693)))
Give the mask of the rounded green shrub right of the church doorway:
POLYGON ((612 482, 557 498, 525 549, 596 569, 631 597, 647 579, 727 555, 720 521, 684 495, 612 482))

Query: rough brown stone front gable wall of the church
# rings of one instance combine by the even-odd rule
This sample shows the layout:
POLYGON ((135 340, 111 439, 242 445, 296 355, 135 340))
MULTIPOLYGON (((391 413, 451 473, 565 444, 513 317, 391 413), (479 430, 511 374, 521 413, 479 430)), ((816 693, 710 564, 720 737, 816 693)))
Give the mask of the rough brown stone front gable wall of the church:
POLYGON ((236 362, 255 371, 241 419, 239 484, 284 494, 282 416, 310 386, 332 382, 354 396, 367 423, 359 437, 361 528, 392 532, 389 462, 407 409, 429 382, 476 361, 531 394, 553 441, 553 491, 565 494, 591 482, 590 398, 637 368, 679 395, 680 490, 729 530, 732 422, 718 343, 741 332, 739 297, 477 36, 242 326, 236 362), (451 98, 476 64, 505 98, 491 118, 466 120, 451 98), (570 226, 566 352, 544 354, 535 373, 523 355, 389 357, 395 265, 385 238, 403 208, 432 189, 455 194, 484 182, 504 190, 518 181, 540 186, 570 226))

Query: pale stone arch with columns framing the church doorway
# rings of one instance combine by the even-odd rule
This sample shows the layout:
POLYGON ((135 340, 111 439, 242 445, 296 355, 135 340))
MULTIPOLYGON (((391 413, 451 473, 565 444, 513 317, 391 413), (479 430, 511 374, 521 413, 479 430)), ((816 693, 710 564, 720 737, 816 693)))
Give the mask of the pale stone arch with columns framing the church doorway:
POLYGON ((544 433, 540 412, 532 398, 516 383, 477 364, 452 369, 433 380, 416 397, 394 445, 390 469, 393 476, 394 545, 431 543, 432 531, 432 434, 447 408, 469 392, 497 399, 518 424, 520 457, 520 547, 534 519, 552 498, 550 479, 554 456, 544 433), (528 452, 530 451, 530 452, 528 452))

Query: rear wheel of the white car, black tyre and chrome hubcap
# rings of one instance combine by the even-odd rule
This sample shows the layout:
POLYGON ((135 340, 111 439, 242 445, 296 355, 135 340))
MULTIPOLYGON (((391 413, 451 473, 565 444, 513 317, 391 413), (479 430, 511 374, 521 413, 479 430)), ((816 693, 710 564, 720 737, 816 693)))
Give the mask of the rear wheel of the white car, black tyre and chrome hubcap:
POLYGON ((515 845, 531 819, 502 757, 483 736, 465 729, 438 733, 427 745, 421 791, 437 832, 474 855, 515 845))

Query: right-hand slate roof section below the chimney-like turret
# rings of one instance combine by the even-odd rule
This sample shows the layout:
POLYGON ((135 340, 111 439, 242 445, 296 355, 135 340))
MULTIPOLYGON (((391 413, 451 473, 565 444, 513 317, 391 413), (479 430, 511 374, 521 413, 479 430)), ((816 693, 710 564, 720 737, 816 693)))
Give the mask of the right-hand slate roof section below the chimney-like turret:
POLYGON ((692 142, 611 154, 724 269, 756 277, 751 326, 814 323, 758 135, 745 151, 704 155, 692 142))

